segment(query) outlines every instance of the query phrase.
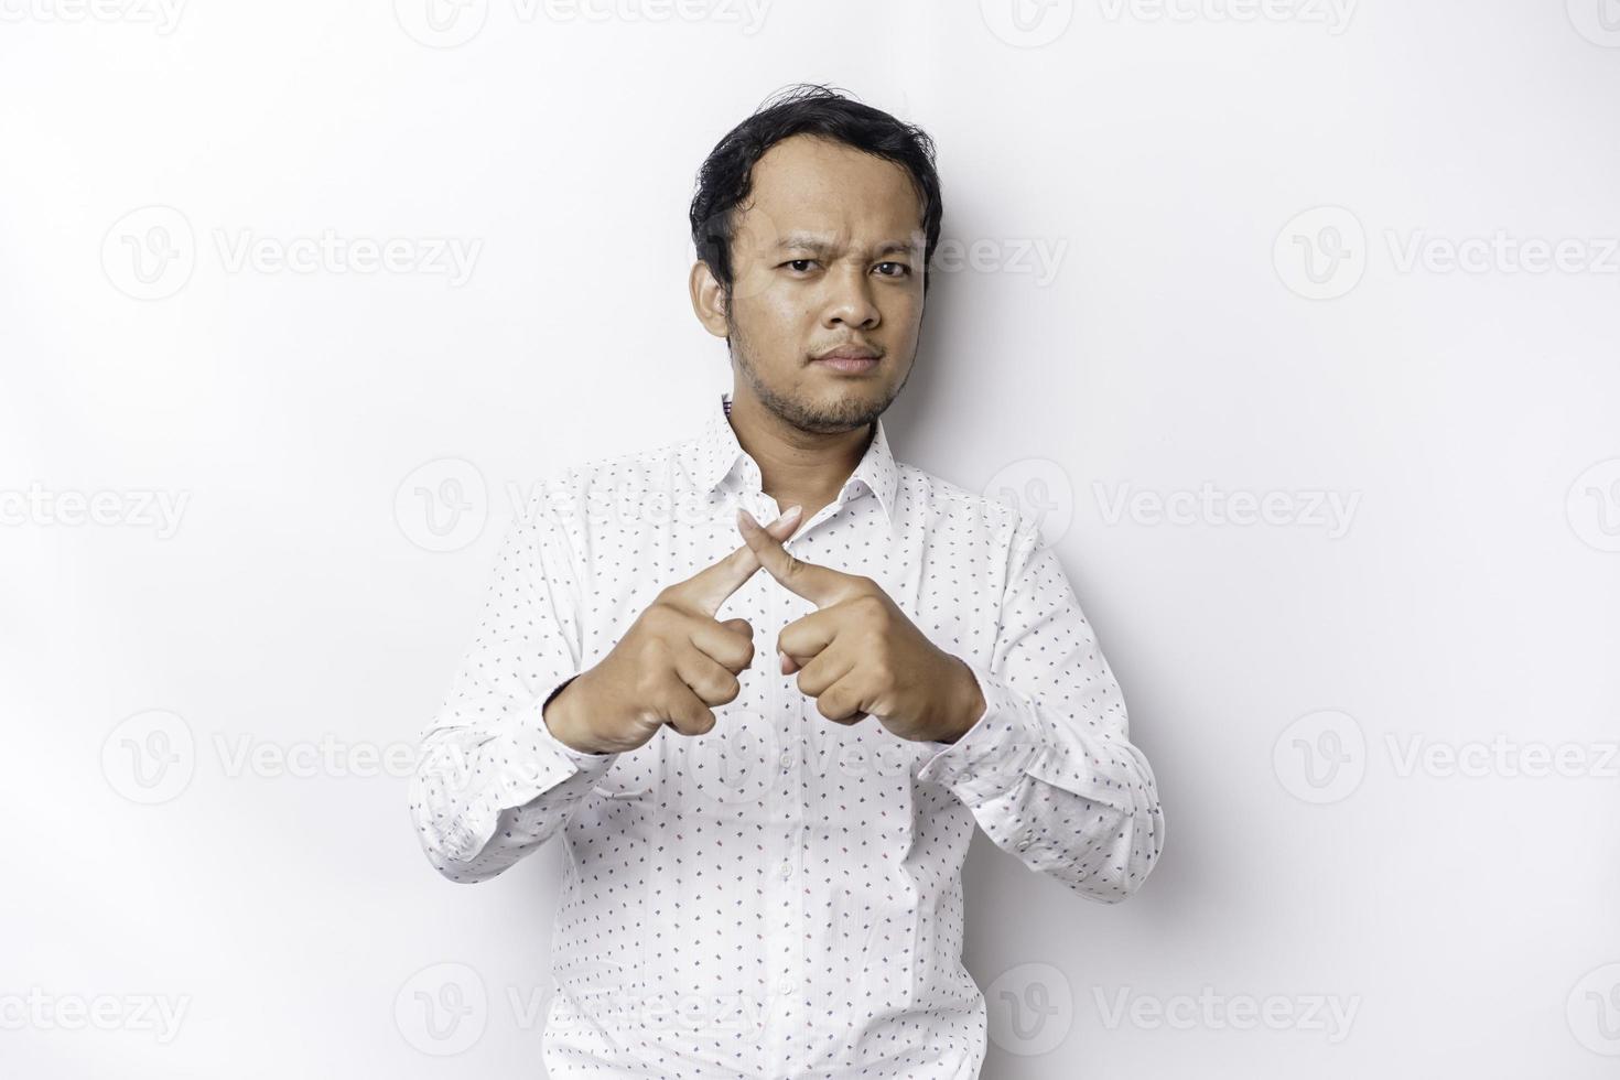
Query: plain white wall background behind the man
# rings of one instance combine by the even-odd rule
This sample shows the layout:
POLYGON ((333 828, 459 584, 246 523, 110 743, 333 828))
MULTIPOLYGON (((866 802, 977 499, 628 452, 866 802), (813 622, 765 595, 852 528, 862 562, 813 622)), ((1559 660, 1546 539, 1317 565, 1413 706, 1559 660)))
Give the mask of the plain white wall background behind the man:
POLYGON ((985 1075, 1614 1074, 1620 5, 1019 3, 0 3, 0 1072, 539 1075, 561 852, 364 755, 514 486, 729 389, 693 173, 810 79, 938 139, 891 439, 1048 508, 1165 803, 1119 907, 975 839, 985 1075))

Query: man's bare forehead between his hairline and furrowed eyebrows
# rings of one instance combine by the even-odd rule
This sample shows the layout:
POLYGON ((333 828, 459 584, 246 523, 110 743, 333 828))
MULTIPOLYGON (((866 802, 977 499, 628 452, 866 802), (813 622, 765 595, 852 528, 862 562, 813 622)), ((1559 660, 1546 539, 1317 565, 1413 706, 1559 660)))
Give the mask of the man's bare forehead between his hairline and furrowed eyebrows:
POLYGON ((896 162, 816 136, 782 139, 753 164, 737 236, 771 244, 787 233, 833 241, 907 240, 922 228, 922 199, 896 162))

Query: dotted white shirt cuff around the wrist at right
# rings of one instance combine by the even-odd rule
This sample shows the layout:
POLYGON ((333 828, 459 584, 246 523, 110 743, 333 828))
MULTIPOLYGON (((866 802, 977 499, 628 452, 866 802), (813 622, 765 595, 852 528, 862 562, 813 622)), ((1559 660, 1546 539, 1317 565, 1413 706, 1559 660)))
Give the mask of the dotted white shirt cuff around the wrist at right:
POLYGON ((954 743, 925 743, 938 746, 938 753, 917 779, 948 787, 967 806, 978 806, 1017 787, 1048 742, 1030 704, 1004 678, 977 664, 967 669, 978 682, 985 711, 954 743))

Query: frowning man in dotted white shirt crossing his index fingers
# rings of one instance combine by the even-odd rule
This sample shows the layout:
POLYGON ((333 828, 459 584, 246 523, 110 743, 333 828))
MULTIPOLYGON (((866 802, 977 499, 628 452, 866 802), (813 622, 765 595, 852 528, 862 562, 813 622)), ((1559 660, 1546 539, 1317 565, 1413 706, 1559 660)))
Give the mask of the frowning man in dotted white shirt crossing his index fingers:
POLYGON ((411 811, 452 881, 562 834, 554 1080, 978 1075, 975 823, 1102 902, 1158 858, 1037 521, 891 455, 940 212, 883 112, 795 87, 739 125, 692 204, 732 392, 544 484, 499 555, 411 811))

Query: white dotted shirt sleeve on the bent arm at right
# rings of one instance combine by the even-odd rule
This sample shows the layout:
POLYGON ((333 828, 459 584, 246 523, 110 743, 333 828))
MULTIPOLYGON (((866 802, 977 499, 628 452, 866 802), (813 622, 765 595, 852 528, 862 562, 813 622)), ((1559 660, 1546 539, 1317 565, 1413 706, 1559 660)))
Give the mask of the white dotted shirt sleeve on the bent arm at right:
MULTIPOLYGON (((1014 531, 985 711, 919 779, 948 787, 996 847, 1103 904, 1140 887, 1165 842, 1158 785, 1124 698, 1038 525, 1014 531)), ((966 662, 966 661, 964 661, 966 662)))

